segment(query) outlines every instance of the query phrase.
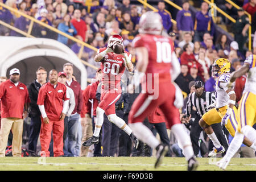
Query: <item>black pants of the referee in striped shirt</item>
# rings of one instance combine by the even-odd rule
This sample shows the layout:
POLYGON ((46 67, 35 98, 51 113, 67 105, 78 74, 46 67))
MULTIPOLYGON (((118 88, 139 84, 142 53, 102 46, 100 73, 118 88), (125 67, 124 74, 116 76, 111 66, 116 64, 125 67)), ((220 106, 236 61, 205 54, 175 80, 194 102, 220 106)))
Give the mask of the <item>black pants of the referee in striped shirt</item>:
MULTIPOLYGON (((200 133, 203 130, 201 128, 201 126, 199 125, 200 119, 201 119, 200 115, 196 114, 195 120, 193 121, 193 123, 191 125, 191 130, 190 130, 190 134, 189 134, 190 138, 191 138, 193 151, 196 156, 199 154, 199 151, 200 151, 200 146, 199 146, 198 141, 199 141, 200 133)), ((218 140, 220 141, 222 146, 225 148, 225 150, 227 150, 228 142, 227 142, 225 135, 222 131, 221 123, 216 123, 211 126, 212 126, 214 133, 216 134, 216 137, 218 138, 218 140)))

